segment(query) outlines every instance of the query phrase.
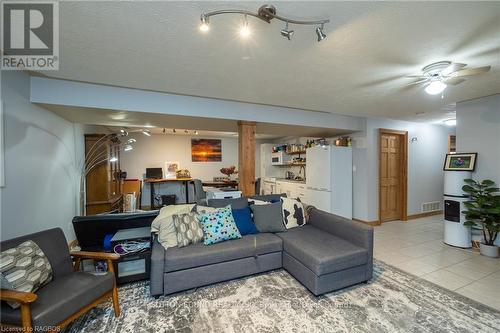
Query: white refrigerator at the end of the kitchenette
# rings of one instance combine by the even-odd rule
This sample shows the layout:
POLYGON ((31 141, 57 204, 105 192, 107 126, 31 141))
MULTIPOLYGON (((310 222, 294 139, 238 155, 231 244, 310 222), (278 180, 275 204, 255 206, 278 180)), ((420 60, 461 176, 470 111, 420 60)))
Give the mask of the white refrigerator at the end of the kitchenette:
POLYGON ((307 203, 352 218, 352 149, 316 146, 307 149, 307 203))

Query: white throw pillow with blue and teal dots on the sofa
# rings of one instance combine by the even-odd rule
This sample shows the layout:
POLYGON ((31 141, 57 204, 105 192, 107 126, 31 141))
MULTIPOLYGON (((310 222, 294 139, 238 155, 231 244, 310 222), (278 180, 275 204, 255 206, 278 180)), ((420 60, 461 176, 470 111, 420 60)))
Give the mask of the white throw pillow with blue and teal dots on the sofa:
POLYGON ((205 245, 241 238, 240 231, 234 222, 231 205, 219 208, 212 213, 202 214, 198 218, 205 232, 203 241, 205 245))

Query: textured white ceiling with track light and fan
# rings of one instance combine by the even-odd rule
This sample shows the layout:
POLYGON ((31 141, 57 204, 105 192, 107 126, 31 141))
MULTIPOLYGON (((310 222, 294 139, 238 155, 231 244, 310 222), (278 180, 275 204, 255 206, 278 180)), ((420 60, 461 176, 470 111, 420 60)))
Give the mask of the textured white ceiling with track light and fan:
MULTIPOLYGON (((329 18, 328 38, 314 27, 203 11, 257 10, 262 2, 62 2, 57 78, 215 97, 340 114, 408 120, 439 118, 446 105, 500 93, 499 2, 273 2, 291 18, 329 18), (491 65, 450 87, 444 99, 404 89, 429 63, 491 65), (424 116, 416 113, 425 112, 424 116)), ((90 97, 91 98, 91 97, 90 97)))

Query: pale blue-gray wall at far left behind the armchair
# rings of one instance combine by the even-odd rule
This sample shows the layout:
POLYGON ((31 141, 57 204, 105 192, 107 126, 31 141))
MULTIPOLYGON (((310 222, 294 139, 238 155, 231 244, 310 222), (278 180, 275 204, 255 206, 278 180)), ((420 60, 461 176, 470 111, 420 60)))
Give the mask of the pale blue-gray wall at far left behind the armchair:
MULTIPOLYGON (((60 227, 74 239, 78 212, 76 142, 81 128, 30 103, 30 77, 2 72, 5 187, 1 189, 1 239, 60 227)), ((80 150, 81 151, 81 150, 80 150)))

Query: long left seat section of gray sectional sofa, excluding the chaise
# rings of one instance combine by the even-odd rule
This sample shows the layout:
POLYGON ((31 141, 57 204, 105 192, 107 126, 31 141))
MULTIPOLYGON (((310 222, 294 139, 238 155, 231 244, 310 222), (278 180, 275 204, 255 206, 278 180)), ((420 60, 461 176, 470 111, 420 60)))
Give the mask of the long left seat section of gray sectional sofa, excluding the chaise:
POLYGON ((168 295, 282 267, 282 240, 270 233, 209 246, 164 249, 153 243, 151 294, 168 295))

